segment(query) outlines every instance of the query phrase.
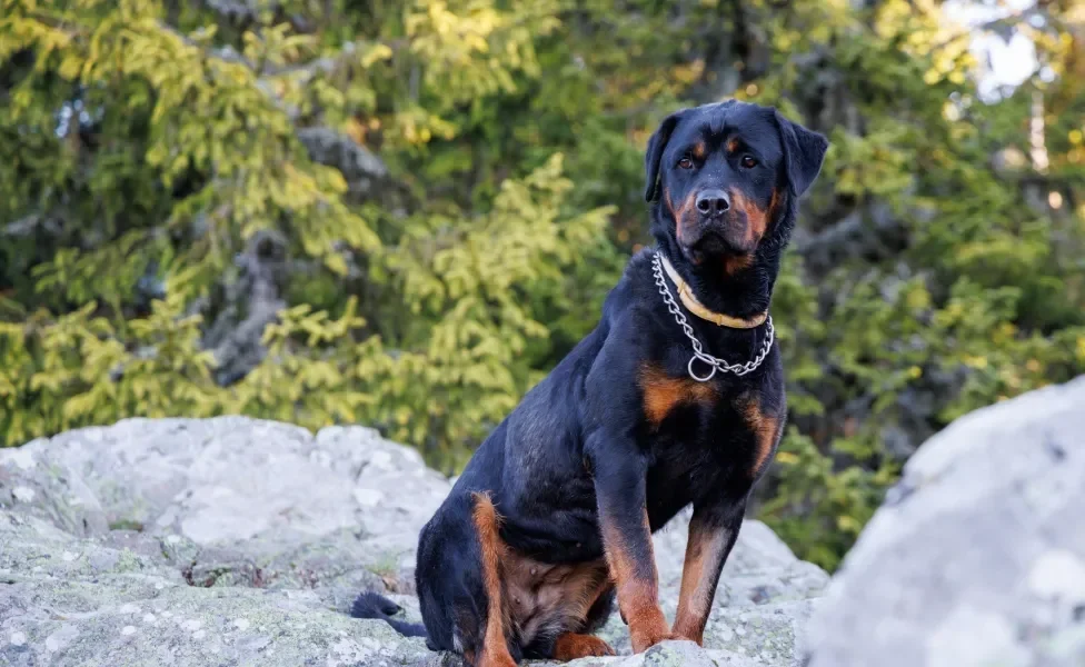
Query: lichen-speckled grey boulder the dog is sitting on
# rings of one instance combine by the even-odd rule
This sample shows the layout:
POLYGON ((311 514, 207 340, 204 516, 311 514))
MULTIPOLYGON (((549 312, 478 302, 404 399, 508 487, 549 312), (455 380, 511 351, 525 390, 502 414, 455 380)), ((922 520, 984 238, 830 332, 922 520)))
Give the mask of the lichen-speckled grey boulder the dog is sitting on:
MULTIPOLYGON (((346 614, 379 590, 418 619, 414 549, 449 482, 367 428, 316 436, 245 418, 132 419, 0 451, 0 665, 458 665, 346 614)), ((656 539, 677 605, 686 517, 656 539)), ((707 650, 668 643, 580 663, 796 664, 827 584, 747 521, 716 595, 707 650)))

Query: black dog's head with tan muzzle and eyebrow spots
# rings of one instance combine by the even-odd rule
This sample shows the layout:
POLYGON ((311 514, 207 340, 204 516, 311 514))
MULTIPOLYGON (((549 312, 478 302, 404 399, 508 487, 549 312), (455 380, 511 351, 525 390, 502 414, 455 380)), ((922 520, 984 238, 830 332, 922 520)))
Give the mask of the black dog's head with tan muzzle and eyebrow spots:
POLYGON ((775 109, 738 101, 683 109, 648 141, 653 232, 694 265, 748 266, 763 239, 786 239, 795 199, 828 141, 775 109))

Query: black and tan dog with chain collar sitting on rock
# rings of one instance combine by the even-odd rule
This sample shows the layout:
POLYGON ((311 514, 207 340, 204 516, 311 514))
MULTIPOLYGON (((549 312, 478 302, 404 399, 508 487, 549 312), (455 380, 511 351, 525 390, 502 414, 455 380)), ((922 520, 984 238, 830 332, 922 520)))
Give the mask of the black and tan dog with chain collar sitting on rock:
MULTIPOLYGON (((425 628, 400 631, 478 667, 609 655, 590 633, 617 595, 635 651, 701 641, 747 497, 784 427, 767 313, 796 202, 827 146, 774 109, 737 101, 663 121, 645 159, 658 247, 630 260, 596 329, 482 442, 422 529, 425 628), (696 359, 694 339, 705 355, 696 359), (651 534, 688 505, 671 627, 651 534)), ((354 609, 392 611, 374 595, 354 609)))

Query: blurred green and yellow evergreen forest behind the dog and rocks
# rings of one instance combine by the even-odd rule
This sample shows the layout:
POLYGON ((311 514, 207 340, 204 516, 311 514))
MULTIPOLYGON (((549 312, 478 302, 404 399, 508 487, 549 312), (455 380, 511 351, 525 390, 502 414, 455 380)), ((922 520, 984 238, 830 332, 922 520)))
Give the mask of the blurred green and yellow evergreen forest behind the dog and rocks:
POLYGON ((659 119, 736 97, 833 143, 757 506, 832 568, 925 438, 1085 371, 1085 8, 976 4, 0 0, 0 446, 240 412, 455 470, 647 242, 659 119))

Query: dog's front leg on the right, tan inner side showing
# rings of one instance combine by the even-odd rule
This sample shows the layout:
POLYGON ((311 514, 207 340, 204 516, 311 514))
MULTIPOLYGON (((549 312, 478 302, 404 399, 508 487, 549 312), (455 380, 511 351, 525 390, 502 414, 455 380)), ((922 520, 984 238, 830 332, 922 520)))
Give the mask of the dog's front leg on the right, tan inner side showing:
POLYGON ((738 538, 745 510, 745 497, 738 501, 694 507, 689 540, 686 542, 686 563, 681 569, 675 635, 701 644, 713 598, 716 597, 719 573, 738 538))

